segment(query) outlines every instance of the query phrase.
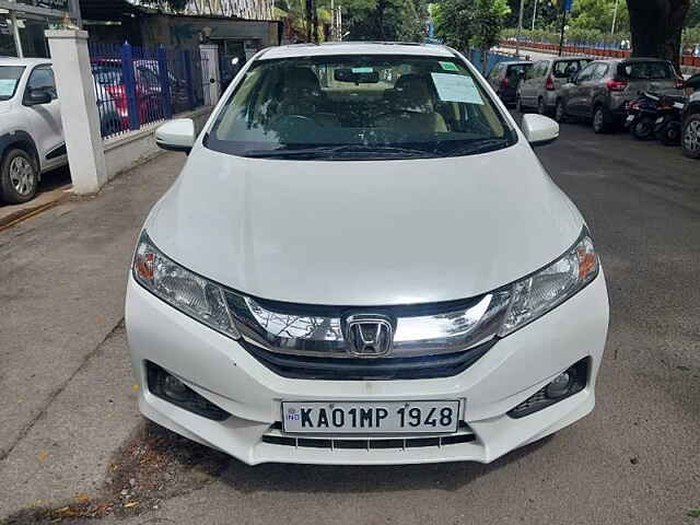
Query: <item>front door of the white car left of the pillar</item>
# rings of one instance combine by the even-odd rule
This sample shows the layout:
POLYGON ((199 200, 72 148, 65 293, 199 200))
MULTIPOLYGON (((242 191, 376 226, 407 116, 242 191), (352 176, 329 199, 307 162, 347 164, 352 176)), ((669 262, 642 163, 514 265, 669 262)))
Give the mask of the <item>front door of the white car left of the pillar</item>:
POLYGON ((66 162, 66 142, 61 126, 61 106, 56 93, 54 71, 49 65, 35 67, 30 73, 22 100, 24 115, 38 150, 42 170, 66 162), (32 92, 44 92, 50 102, 36 104, 32 92))

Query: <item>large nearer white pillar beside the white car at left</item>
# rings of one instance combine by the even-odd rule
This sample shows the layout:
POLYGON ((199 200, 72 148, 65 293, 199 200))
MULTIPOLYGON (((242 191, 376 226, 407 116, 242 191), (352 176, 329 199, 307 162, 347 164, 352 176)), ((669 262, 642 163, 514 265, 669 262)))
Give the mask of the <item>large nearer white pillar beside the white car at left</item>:
POLYGON ((61 122, 75 194, 94 194, 107 182, 100 114, 88 51, 88 32, 45 32, 51 51, 61 122))

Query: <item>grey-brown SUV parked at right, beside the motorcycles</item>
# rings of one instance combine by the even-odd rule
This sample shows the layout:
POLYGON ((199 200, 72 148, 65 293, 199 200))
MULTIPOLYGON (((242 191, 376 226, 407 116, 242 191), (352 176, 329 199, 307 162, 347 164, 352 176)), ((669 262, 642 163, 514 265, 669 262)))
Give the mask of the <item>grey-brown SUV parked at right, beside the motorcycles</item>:
POLYGON ((596 133, 607 131, 625 116, 629 101, 640 92, 682 95, 682 79, 668 60, 631 58, 588 63, 559 92, 555 118, 590 118, 596 133))

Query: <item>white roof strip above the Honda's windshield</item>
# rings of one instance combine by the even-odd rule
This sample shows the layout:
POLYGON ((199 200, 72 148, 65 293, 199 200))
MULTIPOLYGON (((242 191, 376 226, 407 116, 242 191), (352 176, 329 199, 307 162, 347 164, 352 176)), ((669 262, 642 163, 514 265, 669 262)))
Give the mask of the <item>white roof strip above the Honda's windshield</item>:
POLYGON ((279 58, 319 57, 331 55, 412 55, 423 57, 454 57, 448 47, 435 44, 402 42, 328 42, 323 44, 291 44, 270 47, 258 60, 279 58))

